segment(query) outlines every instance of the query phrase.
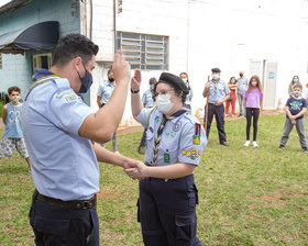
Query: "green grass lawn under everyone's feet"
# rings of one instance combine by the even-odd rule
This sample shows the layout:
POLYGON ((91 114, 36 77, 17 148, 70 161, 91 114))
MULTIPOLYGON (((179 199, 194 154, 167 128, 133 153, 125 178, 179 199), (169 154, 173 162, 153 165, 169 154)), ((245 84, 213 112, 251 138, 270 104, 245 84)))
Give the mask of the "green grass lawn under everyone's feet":
MULTIPOLYGON (((218 144, 212 124, 195 175, 202 245, 308 245, 308 155, 301 152, 295 128, 287 147, 277 149, 284 120, 284 114, 260 118, 258 148, 243 147, 245 119, 226 123, 230 147, 218 144)), ((120 135, 120 153, 142 160, 136 153, 141 134, 120 135)), ((100 164, 100 169, 101 245, 142 245, 138 181, 119 167, 100 164)), ((0 245, 34 245, 28 220, 33 190, 28 166, 16 153, 1 160, 0 245)))

